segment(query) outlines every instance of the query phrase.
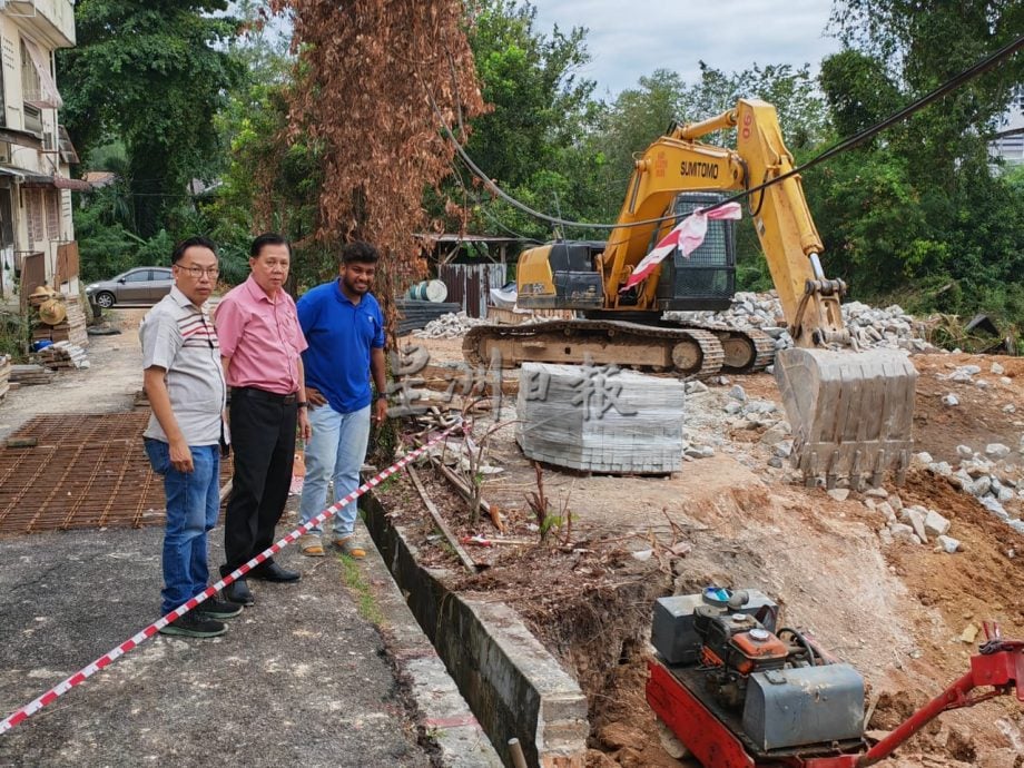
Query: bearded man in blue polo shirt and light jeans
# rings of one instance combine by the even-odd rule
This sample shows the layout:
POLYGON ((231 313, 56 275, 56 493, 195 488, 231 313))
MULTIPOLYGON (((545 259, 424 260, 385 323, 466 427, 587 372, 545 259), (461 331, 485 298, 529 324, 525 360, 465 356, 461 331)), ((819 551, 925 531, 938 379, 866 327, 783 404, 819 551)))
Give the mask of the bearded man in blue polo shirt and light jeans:
MULTIPOLYGON (((298 508, 303 523, 327 505, 332 479, 334 501, 360 486, 371 421, 381 423, 387 415, 384 316, 370 293, 378 258, 376 248, 367 243, 346 244, 338 278, 298 299, 298 322, 309 345, 303 352, 303 365, 313 426, 298 508), (370 387, 371 376, 376 398, 370 387)), ((356 504, 351 502, 335 515, 332 540, 346 554, 364 558, 366 550, 354 535, 355 518, 356 504)), ((321 536, 318 526, 302 536, 302 553, 323 557, 321 536)))

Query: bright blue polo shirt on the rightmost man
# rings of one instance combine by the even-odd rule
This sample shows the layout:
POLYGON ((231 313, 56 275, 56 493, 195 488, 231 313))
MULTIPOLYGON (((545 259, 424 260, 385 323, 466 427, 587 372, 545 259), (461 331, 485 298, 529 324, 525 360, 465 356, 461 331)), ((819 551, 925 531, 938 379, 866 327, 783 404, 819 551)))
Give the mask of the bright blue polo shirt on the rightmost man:
POLYGON ((338 413, 370 405, 370 349, 384 348, 384 316, 372 294, 353 304, 339 280, 308 291, 296 305, 309 344, 303 352, 306 386, 319 390, 338 413))

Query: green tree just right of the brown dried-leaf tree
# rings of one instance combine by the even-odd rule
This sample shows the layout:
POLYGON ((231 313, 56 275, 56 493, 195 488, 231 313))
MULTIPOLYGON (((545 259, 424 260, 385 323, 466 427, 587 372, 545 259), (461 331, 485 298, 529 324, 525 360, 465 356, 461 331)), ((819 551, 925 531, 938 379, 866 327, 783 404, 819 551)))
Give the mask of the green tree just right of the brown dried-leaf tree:
MULTIPOLYGON (((476 3, 469 40, 489 111, 471 122, 466 151, 513 197, 551 215, 593 220, 602 211, 603 155, 589 138, 600 119, 594 82, 579 76, 589 60, 587 30, 550 36, 535 29, 536 9, 518 0, 476 3)), ((462 203, 471 216, 449 226, 515 233, 544 239, 550 225, 492 200, 462 173, 461 186, 443 196, 462 203)), ((435 204, 436 209, 436 204, 435 204)))

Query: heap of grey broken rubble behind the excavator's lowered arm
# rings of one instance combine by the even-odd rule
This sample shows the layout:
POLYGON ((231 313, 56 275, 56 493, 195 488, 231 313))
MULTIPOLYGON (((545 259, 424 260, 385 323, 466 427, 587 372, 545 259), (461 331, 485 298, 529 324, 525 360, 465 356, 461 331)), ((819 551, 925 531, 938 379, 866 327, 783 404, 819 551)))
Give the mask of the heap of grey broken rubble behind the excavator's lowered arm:
MULTIPOLYGON (((736 328, 757 328, 776 339, 777 349, 792 346, 786 329, 782 306, 775 291, 764 294, 737 293, 732 306, 722 312, 667 312, 666 319, 725 324, 736 328)), ((936 352, 922 338, 923 325, 897 304, 878 309, 860 302, 843 305, 843 319, 863 348, 885 347, 908 352, 936 352)))

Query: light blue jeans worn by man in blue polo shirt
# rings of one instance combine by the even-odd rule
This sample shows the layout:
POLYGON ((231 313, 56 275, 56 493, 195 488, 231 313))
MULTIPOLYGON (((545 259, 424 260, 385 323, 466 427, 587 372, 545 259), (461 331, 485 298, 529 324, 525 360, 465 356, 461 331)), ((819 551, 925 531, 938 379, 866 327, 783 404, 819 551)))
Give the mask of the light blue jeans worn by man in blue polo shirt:
MULTIPOLYGON (((306 443, 306 479, 298 504, 299 522, 307 523, 326 509, 327 484, 334 481, 334 502, 360 486, 360 467, 370 443, 370 408, 338 413, 329 405, 309 410, 313 437, 306 443)), ((355 529, 356 502, 334 516, 334 533, 351 535, 355 529)), ((319 533, 317 525, 313 533, 319 533)))

